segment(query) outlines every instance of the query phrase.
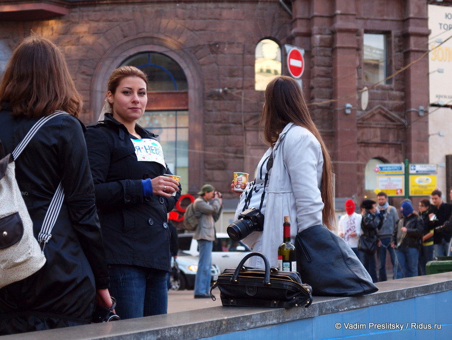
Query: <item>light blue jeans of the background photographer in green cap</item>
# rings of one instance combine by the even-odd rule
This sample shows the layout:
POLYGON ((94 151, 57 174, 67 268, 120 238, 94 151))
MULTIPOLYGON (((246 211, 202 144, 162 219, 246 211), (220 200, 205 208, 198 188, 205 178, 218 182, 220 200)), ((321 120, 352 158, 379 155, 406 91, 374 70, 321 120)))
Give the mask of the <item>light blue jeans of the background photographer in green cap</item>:
POLYGON ((199 262, 195 277, 194 295, 207 295, 210 293, 210 280, 212 274, 212 248, 213 241, 198 240, 199 262))

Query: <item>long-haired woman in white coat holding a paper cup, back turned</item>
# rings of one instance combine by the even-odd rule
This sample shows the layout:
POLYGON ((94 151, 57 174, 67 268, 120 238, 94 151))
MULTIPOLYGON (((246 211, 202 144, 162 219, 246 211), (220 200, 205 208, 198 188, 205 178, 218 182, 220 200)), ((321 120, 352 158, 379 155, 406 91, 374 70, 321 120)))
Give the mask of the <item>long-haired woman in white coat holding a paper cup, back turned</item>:
MULTIPOLYGON (((243 241, 253 251, 264 253, 271 266, 277 266, 277 250, 283 242, 283 218, 290 216, 291 236, 313 225, 334 228, 331 159, 326 146, 311 119, 303 92, 298 83, 286 76, 273 79, 265 91, 261 126, 270 148, 258 165, 255 182, 249 183, 241 196, 236 216, 243 211, 250 191, 250 206, 259 207, 267 172, 269 155, 273 152, 273 167, 265 188, 262 213, 263 232, 254 232, 243 241)), ((258 257, 250 265, 263 267, 258 257)))

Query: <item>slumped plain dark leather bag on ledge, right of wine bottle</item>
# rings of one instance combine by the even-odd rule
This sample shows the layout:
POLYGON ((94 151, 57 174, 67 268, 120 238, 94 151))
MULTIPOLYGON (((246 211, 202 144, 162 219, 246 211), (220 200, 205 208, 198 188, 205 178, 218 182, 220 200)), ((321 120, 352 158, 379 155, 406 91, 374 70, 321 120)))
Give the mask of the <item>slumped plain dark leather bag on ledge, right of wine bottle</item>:
POLYGON ((361 296, 378 290, 352 248, 323 225, 298 233, 295 249, 297 270, 314 296, 361 296))

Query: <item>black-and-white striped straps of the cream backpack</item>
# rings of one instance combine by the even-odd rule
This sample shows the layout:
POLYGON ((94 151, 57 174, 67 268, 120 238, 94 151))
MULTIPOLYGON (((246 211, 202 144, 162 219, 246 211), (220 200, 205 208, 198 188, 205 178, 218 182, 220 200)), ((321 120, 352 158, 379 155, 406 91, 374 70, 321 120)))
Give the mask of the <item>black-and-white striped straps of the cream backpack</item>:
MULTIPOLYGON (((13 159, 16 160, 19 155, 24 151, 25 147, 28 145, 28 143, 31 141, 31 139, 35 136, 35 134, 38 132, 38 130, 49 120, 51 120, 54 117, 61 116, 61 115, 69 115, 67 112, 57 110, 53 112, 53 114, 42 117, 39 119, 38 122, 33 125, 33 127, 30 129, 30 131, 25 135, 24 139, 18 144, 16 149, 12 152, 13 159)), ((47 209, 46 215, 44 217, 44 221, 42 222, 41 231, 38 234, 38 242, 39 244, 44 243, 44 246, 42 247, 42 253, 44 253, 44 248, 46 246, 46 243, 49 242, 52 235, 50 234, 52 232, 53 226, 55 225, 55 222, 57 220, 58 214, 60 213, 61 206, 63 205, 64 200, 64 192, 63 192, 63 182, 60 181, 58 184, 58 187, 55 191, 55 194, 52 197, 52 200, 50 201, 49 208, 47 209)))

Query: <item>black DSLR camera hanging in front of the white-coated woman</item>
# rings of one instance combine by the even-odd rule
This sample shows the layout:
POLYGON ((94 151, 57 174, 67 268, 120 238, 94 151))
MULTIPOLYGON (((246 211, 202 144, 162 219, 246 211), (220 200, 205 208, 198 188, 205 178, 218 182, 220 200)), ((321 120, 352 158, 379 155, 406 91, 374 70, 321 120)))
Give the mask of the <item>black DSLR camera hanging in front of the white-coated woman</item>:
POLYGON ((237 242, 253 232, 262 232, 264 230, 264 215, 259 209, 251 207, 239 215, 239 219, 232 222, 228 229, 231 240, 237 242))

